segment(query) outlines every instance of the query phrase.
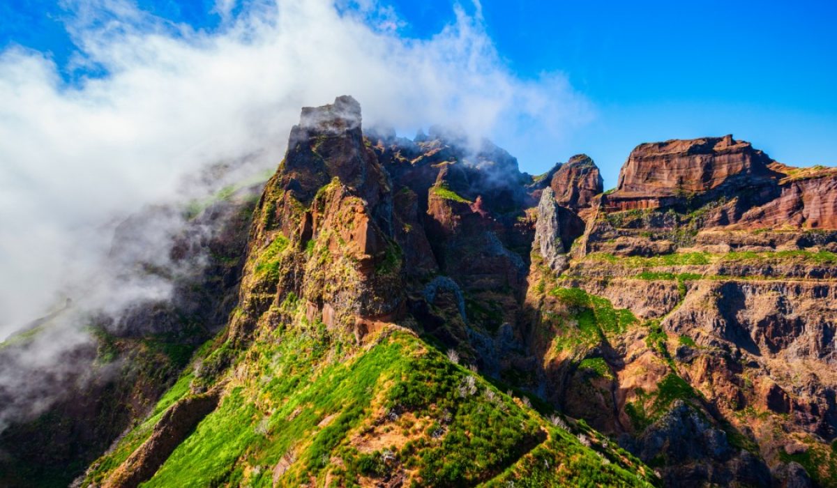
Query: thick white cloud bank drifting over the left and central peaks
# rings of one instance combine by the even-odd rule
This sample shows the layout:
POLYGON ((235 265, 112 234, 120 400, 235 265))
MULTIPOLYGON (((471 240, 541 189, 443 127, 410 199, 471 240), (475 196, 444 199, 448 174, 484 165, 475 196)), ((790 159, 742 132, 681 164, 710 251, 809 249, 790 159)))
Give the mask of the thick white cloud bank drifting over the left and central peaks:
POLYGON ((0 340, 68 297, 118 308, 165 295, 157 284, 116 298, 95 288, 108 283, 113 225, 229 182, 183 184, 207 165, 249 161, 229 180, 275 167, 303 105, 349 94, 365 126, 443 123, 520 141, 549 141, 588 117, 561 75, 521 80, 508 69, 478 3, 454 8, 428 39, 403 38, 393 10, 370 1, 223 0, 212 31, 119 0, 70 9, 74 63, 96 76, 68 85, 42 53, 0 54, 0 340))

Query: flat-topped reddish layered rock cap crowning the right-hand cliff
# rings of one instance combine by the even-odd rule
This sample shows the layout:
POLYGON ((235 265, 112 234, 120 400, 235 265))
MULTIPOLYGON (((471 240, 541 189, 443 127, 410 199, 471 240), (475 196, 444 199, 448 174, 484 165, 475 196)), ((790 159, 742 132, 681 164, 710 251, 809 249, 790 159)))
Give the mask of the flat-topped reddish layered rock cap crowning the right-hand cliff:
POLYGON ((601 204, 694 210, 721 202, 704 226, 832 229, 835 186, 833 168, 788 167, 747 141, 706 137, 637 146, 601 204))

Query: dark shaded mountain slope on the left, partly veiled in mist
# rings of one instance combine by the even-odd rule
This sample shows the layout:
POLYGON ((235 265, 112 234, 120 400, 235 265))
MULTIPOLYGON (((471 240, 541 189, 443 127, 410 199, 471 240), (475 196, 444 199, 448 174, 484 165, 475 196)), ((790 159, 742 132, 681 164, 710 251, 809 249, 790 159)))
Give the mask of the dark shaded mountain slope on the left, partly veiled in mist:
POLYGON ((248 185, 203 203, 200 216, 172 235, 157 226, 174 220, 177 208, 146 208, 117 226, 103 281, 131 290, 151 276, 172 286, 167 300, 91 316, 88 291, 73 290, 75 302, 0 344, 0 371, 9 373, 0 405, 13 414, 0 419, 0 485, 69 485, 226 326, 260 189, 248 185), (175 270, 149 264, 151 249, 171 254, 175 270))

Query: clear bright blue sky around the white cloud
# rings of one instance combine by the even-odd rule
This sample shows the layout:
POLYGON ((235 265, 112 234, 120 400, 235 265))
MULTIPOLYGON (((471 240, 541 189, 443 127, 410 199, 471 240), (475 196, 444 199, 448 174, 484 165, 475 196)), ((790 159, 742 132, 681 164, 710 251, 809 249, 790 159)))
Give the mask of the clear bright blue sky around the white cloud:
MULTIPOLYGON (((220 23, 211 0, 138 4, 196 28, 220 23)), ((402 36, 426 38, 454 19, 445 1, 392 5, 402 36)), ((483 0, 481 9, 513 73, 561 72, 593 107, 593 121, 556 142, 551 161, 543 148, 516 148, 526 171, 586 152, 610 187, 640 142, 727 133, 788 164, 837 165, 837 2, 483 0)), ((66 69, 66 15, 54 2, 4 2, 0 47, 38 49, 79 76, 66 69)))

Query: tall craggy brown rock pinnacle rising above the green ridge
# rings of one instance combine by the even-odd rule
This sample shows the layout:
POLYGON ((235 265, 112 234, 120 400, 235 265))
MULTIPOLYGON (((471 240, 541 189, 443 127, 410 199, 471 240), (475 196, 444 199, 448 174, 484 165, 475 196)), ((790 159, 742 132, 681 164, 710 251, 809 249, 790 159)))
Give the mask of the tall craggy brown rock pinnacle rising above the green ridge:
POLYGON ((230 324, 237 343, 251 339, 254 317, 290 294, 306 300, 309 320, 341 331, 352 331, 358 318, 403 310, 392 185, 363 138, 360 105, 351 97, 302 110, 257 214, 251 271, 239 294, 244 313, 230 324))

